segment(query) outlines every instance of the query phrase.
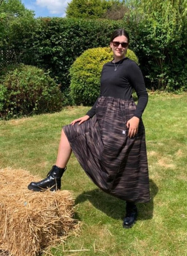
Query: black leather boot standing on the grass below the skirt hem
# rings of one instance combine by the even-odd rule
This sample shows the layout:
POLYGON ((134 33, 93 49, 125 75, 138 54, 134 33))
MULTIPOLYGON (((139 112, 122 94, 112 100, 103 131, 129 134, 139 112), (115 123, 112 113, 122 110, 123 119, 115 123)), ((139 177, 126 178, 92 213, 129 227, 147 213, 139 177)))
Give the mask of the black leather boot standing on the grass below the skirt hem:
POLYGON ((126 202, 126 215, 123 219, 123 228, 131 228, 136 222, 138 209, 135 203, 126 202))

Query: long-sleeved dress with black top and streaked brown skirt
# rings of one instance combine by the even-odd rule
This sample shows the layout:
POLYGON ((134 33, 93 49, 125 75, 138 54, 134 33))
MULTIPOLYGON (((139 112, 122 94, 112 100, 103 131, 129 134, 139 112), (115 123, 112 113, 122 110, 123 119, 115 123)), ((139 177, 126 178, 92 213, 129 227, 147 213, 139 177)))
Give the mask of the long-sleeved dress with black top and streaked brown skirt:
POLYGON ((100 189, 131 202, 149 202, 150 186, 141 115, 148 96, 138 65, 125 57, 103 65, 101 89, 82 124, 62 126, 78 162, 100 189), (119 65, 118 65, 119 64, 119 65), (138 105, 131 93, 138 95, 138 105), (138 134, 128 137, 126 122, 140 118, 138 134))

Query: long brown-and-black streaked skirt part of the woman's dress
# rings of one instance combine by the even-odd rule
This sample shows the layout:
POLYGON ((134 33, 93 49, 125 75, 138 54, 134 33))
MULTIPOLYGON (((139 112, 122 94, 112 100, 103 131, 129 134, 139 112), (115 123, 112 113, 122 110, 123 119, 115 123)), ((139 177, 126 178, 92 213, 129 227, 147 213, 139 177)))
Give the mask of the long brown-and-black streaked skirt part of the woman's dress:
POLYGON ((133 100, 100 96, 95 115, 82 124, 62 126, 78 162, 100 189, 127 201, 149 202, 145 128, 128 137, 133 100))

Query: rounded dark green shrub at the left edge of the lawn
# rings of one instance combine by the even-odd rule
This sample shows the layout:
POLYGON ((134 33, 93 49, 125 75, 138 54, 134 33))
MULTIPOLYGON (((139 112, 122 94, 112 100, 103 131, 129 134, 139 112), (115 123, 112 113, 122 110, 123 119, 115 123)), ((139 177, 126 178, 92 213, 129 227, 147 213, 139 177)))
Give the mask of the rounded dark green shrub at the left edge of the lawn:
POLYGON ((7 67, 0 77, 0 118, 55 112, 62 108, 59 86, 42 69, 28 65, 7 67))

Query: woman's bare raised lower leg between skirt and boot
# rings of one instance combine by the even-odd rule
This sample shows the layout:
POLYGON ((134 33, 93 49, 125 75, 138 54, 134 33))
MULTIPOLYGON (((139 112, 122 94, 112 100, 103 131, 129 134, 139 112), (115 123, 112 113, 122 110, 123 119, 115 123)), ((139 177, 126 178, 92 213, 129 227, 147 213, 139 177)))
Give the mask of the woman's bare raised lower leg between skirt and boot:
POLYGON ((58 155, 56 160, 56 166, 65 168, 70 155, 72 154, 72 148, 70 147, 69 141, 62 129, 60 143, 58 146, 58 155))

